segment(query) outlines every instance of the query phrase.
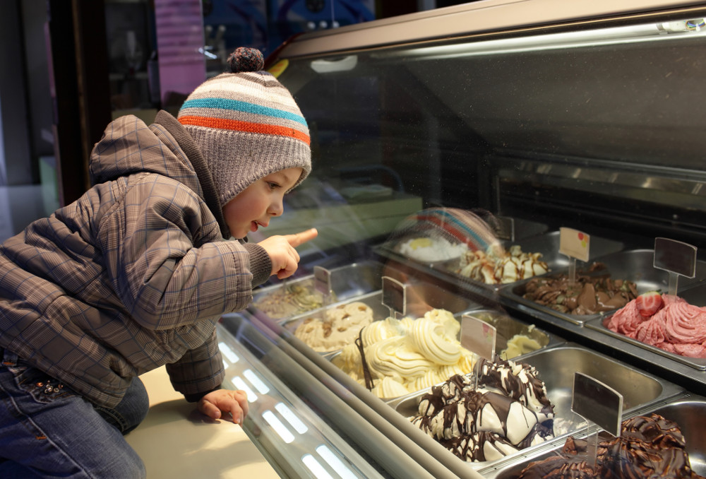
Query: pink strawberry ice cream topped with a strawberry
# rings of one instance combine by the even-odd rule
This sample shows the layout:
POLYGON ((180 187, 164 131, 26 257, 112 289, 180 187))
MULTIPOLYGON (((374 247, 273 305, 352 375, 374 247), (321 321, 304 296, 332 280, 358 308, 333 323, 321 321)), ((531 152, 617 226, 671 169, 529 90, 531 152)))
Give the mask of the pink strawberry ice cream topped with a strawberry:
POLYGON ((661 295, 659 309, 652 312, 654 292, 650 297, 650 312, 642 307, 640 295, 618 310, 606 327, 642 343, 669 353, 688 357, 706 357, 706 307, 689 304, 681 297, 661 295))

